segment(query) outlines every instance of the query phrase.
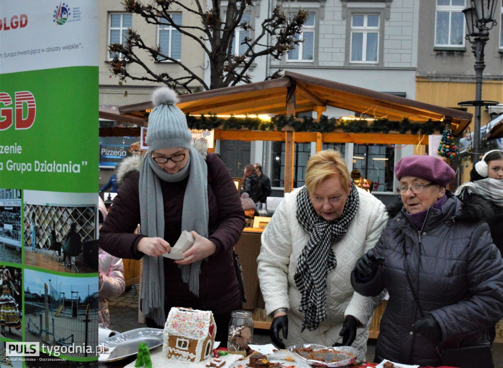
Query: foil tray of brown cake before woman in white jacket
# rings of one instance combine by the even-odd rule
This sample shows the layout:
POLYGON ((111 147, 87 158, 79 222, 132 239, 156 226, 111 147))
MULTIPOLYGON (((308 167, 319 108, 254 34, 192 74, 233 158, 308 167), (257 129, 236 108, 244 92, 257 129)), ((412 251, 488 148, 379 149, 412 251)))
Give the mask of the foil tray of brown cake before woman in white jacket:
POLYGON ((348 366, 361 355, 360 350, 351 346, 303 344, 290 346, 287 350, 304 358, 309 365, 329 368, 348 366))

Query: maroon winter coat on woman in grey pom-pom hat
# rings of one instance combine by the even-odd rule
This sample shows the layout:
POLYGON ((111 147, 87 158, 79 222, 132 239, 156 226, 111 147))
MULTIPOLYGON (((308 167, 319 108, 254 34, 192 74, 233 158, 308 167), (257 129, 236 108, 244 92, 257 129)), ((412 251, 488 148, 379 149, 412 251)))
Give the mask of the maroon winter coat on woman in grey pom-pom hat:
MULTIPOLYGON (((110 212, 100 230, 100 246, 120 258, 140 259, 136 246, 143 235, 133 234, 140 223, 138 195, 140 159, 123 165, 126 174, 110 212)), ((244 213, 232 177, 220 158, 208 153, 208 239, 216 244, 215 254, 204 259, 199 275, 199 298, 182 281, 181 271, 172 259, 164 258, 165 305, 195 306, 213 313, 239 309, 241 300, 233 265, 232 248, 244 228, 244 213)), ((121 178, 120 178, 121 179, 121 178)), ((182 207, 188 178, 179 182, 160 180, 164 198, 164 239, 175 245, 182 232, 182 207)))

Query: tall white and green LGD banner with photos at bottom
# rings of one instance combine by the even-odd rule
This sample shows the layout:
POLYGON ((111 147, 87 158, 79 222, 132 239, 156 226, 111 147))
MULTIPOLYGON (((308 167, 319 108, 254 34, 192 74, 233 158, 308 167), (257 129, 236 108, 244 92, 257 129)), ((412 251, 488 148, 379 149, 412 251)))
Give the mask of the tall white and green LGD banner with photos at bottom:
POLYGON ((0 368, 97 366, 98 0, 0 20, 0 368))

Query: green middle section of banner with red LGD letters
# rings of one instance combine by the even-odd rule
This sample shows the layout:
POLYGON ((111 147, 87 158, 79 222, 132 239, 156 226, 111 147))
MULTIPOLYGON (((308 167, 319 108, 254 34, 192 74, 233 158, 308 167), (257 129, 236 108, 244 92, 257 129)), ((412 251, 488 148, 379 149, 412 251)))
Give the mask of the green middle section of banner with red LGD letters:
POLYGON ((91 66, 1 76, 12 103, 0 118, 0 188, 96 192, 97 76, 91 66))

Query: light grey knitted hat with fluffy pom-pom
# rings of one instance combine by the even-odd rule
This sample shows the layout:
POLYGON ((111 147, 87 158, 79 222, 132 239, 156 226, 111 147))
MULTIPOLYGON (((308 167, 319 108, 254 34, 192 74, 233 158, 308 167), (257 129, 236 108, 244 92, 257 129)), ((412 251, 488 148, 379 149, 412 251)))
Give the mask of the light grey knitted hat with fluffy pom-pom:
POLYGON ((169 87, 160 87, 152 94, 153 110, 148 116, 145 143, 148 152, 164 148, 190 148, 192 135, 184 113, 176 104, 177 93, 169 87))

